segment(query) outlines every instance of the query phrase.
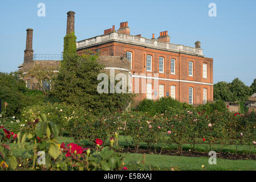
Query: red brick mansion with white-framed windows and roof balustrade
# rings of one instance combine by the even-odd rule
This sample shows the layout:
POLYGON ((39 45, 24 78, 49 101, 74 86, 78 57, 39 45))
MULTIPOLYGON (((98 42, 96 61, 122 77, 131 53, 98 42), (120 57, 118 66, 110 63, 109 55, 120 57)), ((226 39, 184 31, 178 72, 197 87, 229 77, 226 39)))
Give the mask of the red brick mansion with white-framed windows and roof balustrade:
POLYGON ((104 35, 76 46, 78 54, 91 49, 102 56, 127 57, 131 62, 129 86, 132 93, 138 93, 139 101, 159 97, 193 105, 213 101, 213 59, 203 55, 198 41, 194 48, 172 44, 167 31, 160 32, 157 39, 155 34, 152 39, 134 36, 128 22, 122 22, 119 30, 113 26, 104 35))

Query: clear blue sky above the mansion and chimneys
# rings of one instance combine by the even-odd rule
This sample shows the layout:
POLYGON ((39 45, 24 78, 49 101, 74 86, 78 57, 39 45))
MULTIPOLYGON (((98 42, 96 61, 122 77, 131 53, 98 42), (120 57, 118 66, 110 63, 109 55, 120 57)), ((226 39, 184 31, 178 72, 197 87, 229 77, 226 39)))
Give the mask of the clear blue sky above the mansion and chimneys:
POLYGON ((128 21, 131 34, 151 38, 168 30, 170 42, 194 47, 200 40, 206 57, 212 57, 214 83, 240 78, 251 85, 256 78, 256 1, 168 0, 82 1, 27 0, 0 2, 0 72, 16 71, 23 63, 26 28, 34 29, 34 53, 63 51, 66 13, 75 11, 78 40, 103 34, 103 30, 128 21), (38 3, 46 5, 39 17, 38 3), (208 15, 216 3, 217 17, 208 15))

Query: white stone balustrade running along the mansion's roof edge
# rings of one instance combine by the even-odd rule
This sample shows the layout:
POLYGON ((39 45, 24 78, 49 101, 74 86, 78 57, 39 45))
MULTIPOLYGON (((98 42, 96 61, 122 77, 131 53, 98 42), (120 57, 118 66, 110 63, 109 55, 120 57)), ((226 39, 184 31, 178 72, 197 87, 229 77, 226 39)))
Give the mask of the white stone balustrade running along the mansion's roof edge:
POLYGON ((90 46, 94 46, 96 44, 110 42, 114 40, 117 42, 132 43, 132 44, 147 46, 152 48, 166 49, 168 51, 204 56, 203 51, 200 48, 182 46, 182 45, 172 44, 168 42, 160 42, 158 40, 141 38, 139 36, 120 34, 118 32, 112 32, 110 34, 100 35, 94 38, 79 41, 76 43, 76 48, 77 49, 87 48, 90 46))

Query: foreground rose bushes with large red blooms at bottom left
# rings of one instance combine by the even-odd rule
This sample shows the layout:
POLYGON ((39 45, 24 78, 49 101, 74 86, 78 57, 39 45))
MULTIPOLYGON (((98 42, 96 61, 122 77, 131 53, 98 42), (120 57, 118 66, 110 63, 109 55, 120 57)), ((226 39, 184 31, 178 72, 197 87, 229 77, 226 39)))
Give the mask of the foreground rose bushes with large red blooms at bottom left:
MULTIPOLYGON (((48 121, 45 114, 31 113, 30 122, 26 129, 18 133, 18 147, 25 150, 20 163, 25 163, 25 154, 28 152, 32 160, 26 163, 26 168, 30 170, 149 170, 151 167, 146 163, 145 158, 138 162, 130 162, 124 166, 123 157, 115 153, 113 148, 101 147, 97 145, 96 151, 82 148, 74 143, 58 143, 58 127, 54 122, 48 121), (32 146, 32 148, 31 148, 32 146), (100 149, 100 150, 98 150, 100 149), (45 164, 37 164, 36 159, 39 151, 45 154, 45 164), (84 152, 86 151, 86 153, 84 152), (128 168, 127 168, 128 167, 128 168)), ((0 137, 5 134, 0 130, 0 137)), ((117 138, 118 135, 116 134, 117 138)), ((14 147, 17 148, 17 147, 14 147)), ((17 168, 17 159, 13 156, 14 148, 6 143, 0 143, 0 168, 17 168)), ((29 161, 29 159, 27 159, 29 161)))

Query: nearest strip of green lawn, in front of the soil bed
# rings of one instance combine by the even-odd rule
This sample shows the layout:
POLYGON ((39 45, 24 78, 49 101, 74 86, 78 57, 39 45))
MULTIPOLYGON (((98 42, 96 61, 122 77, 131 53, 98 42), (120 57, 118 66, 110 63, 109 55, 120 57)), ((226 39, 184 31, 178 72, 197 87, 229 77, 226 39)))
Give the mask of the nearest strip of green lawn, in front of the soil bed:
MULTIPOLYGON (((124 156, 124 163, 131 162, 132 160, 140 160, 143 158, 143 154, 122 154, 124 156)), ((153 166, 153 169, 169 170, 172 167, 176 167, 182 171, 193 170, 208 170, 208 171, 249 171, 256 170, 255 160, 227 160, 218 159, 217 164, 210 165, 208 163, 209 158, 196 158, 185 156, 168 156, 168 155, 153 155, 146 154, 146 161, 153 166), (205 167, 202 168, 202 165, 205 167)))

